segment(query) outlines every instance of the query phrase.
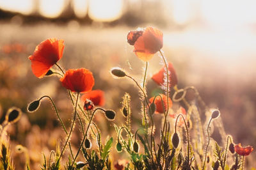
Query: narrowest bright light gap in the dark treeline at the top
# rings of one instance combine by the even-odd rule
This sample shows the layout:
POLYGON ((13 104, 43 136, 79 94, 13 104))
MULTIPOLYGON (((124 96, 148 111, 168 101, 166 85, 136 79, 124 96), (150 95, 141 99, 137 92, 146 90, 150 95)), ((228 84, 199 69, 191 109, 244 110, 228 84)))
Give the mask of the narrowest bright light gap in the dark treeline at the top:
POLYGON ((73 0, 73 9, 77 17, 83 18, 87 14, 88 1, 87 0, 73 0))

